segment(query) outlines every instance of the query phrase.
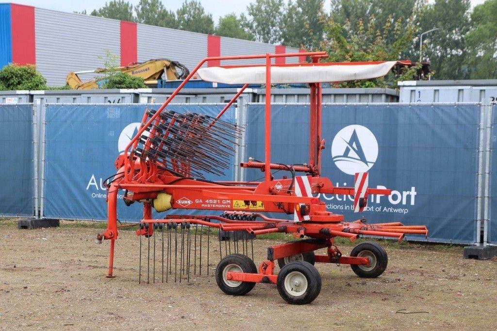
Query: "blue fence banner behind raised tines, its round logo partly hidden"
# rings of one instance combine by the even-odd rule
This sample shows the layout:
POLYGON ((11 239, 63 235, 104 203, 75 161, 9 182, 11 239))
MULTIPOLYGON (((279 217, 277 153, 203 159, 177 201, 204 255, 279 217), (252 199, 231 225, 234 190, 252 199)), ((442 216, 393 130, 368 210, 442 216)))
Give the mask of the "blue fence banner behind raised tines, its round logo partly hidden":
MULTIPOLYGON (((216 116, 225 104, 171 104, 167 109, 216 116)), ((157 109, 159 105, 149 105, 157 109)), ((106 189, 102 182, 114 174, 114 161, 140 128, 145 105, 48 105, 46 108, 45 216, 63 219, 106 220, 106 189)), ((223 119, 235 123, 235 109, 223 119)), ((225 176, 232 180, 232 166, 225 176)), ((119 194, 122 198, 122 193, 119 194)), ((126 207, 118 201, 120 221, 138 221, 143 205, 126 207)), ((182 211, 185 214, 192 211, 182 211)))

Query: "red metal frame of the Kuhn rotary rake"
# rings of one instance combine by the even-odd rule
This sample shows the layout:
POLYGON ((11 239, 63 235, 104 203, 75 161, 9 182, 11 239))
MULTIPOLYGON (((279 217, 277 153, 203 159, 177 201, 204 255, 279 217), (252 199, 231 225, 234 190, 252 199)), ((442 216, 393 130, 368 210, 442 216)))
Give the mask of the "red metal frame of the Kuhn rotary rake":
MULTIPOLYGON (((300 52, 288 54, 264 54, 264 55, 246 55, 246 56, 227 56, 227 57, 208 57, 202 60, 191 71, 188 77, 176 88, 176 90, 167 98, 166 102, 149 118, 147 111, 142 119, 142 128, 137 135, 131 140, 125 149, 124 155, 117 158, 115 165, 117 173, 123 174, 122 178, 113 181, 108 187, 108 226, 104 233, 99 234, 97 239, 110 240, 110 256, 108 277, 112 277, 113 258, 115 240, 118 238, 117 227, 117 192, 119 189, 125 189, 134 192, 132 197, 127 197, 129 201, 147 201, 144 203, 144 217, 142 224, 147 223, 183 223, 207 225, 220 228, 223 231, 247 231, 254 235, 285 232, 293 233, 296 238, 304 236, 315 238, 318 242, 298 241, 294 243, 273 246, 270 248, 272 253, 268 260, 260 264, 258 274, 247 273, 229 273, 233 280, 255 281, 255 282, 275 282, 274 260, 297 253, 316 250, 319 248, 328 248, 325 255, 316 255, 316 261, 328 263, 344 264, 367 264, 367 258, 341 256, 340 251, 333 245, 334 237, 349 238, 354 241, 359 235, 376 235, 393 237, 398 240, 404 238, 404 234, 423 234, 427 235, 426 227, 412 226, 405 227, 402 224, 382 223, 366 225, 365 220, 354 222, 344 222, 343 215, 333 214, 326 210, 326 204, 316 197, 296 196, 295 192, 285 189, 278 189, 277 185, 290 187, 293 179, 271 177, 271 169, 287 168, 278 164, 272 164, 271 157, 271 70, 273 66, 296 66, 296 65, 275 65, 271 61, 273 58, 301 57, 308 56, 312 63, 299 64, 298 66, 334 66, 336 63, 320 63, 321 58, 326 58, 326 52, 300 52), (193 179, 181 178, 170 171, 159 169, 158 165, 150 162, 148 159, 139 159, 134 155, 134 149, 138 146, 139 137, 147 127, 159 116, 171 100, 178 94, 179 90, 195 75, 202 65, 209 61, 226 61, 240 59, 265 59, 266 68, 266 101, 265 101, 265 160, 264 162, 242 163, 241 166, 260 168, 264 172, 264 180, 261 182, 208 182, 199 184, 193 179), (180 183, 175 183, 181 178, 180 183), (222 184, 232 184, 236 186, 226 186, 222 184), (228 217, 219 216, 185 216, 185 215, 167 215, 166 219, 152 219, 152 205, 150 201, 158 196, 159 192, 166 192, 172 197, 172 208, 175 209, 209 209, 209 210, 227 210, 225 215, 236 214, 239 217, 250 215, 258 221, 233 221, 228 217), (176 201, 186 198, 191 203, 178 204, 176 201), (230 201, 231 208, 226 208, 226 204, 220 204, 221 207, 203 207, 202 201, 230 201), (200 202, 197 202, 199 200, 200 202), (234 201, 243 201, 243 208, 235 208, 234 201), (269 219, 260 212, 280 212, 293 214, 294 210, 303 209, 309 220, 304 222, 294 222, 287 219, 269 219), (212 223, 216 220, 220 223, 212 223)), ((381 62, 363 62, 363 63, 340 63, 339 65, 349 64, 376 64, 381 62)), ((408 63, 403 63, 408 64, 408 63)), ((244 67, 228 66, 225 68, 244 67)), ((221 117, 235 100, 244 92, 248 84, 245 84, 239 92, 226 104, 219 112, 216 118, 221 117)), ((324 149, 325 141, 322 139, 322 87, 321 83, 310 83, 311 105, 310 105, 310 128, 309 128, 309 162, 307 165, 294 166, 295 171, 307 174, 307 180, 311 186, 312 193, 330 193, 330 194, 354 194, 354 188, 351 187, 334 187, 331 180, 321 177, 321 151, 324 149)), ((155 129, 150 131, 154 135, 155 129)), ((150 148, 150 140, 145 143, 145 149, 150 148)), ((187 165, 185 165, 187 167, 187 165)), ((367 189, 368 194, 390 194, 389 189, 367 189)), ((213 203, 213 205, 216 205, 213 203)), ((228 206, 230 204, 228 203, 228 206)), ((152 235, 153 227, 137 230, 137 235, 152 235)))

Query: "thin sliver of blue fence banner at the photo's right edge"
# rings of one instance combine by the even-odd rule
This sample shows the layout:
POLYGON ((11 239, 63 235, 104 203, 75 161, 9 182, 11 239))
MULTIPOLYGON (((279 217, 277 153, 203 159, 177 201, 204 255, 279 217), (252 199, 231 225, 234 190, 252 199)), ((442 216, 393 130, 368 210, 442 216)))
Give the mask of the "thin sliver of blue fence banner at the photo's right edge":
POLYGON ((489 238, 488 241, 492 244, 497 244, 497 105, 492 106, 492 134, 490 136, 490 222, 489 222, 489 238))

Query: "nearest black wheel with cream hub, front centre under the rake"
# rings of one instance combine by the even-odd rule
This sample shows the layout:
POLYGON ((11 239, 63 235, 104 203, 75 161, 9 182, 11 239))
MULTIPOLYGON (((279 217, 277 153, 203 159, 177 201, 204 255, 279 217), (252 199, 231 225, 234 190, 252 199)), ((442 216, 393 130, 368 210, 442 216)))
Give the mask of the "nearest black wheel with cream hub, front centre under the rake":
POLYGON ((290 262, 278 273, 276 288, 289 304, 305 305, 313 302, 321 292, 321 275, 309 262, 290 262))

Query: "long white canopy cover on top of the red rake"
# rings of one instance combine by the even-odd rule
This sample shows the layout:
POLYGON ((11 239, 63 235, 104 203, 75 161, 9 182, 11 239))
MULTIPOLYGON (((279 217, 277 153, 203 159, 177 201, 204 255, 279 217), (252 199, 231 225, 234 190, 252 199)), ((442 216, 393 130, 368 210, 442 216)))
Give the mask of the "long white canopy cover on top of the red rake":
MULTIPOLYGON (((333 64, 330 66, 271 67, 271 83, 324 83, 365 80, 388 74, 398 61, 379 64, 333 64)), ((222 68, 208 67, 198 70, 200 78, 207 82, 225 84, 265 84, 266 67, 222 68)))

